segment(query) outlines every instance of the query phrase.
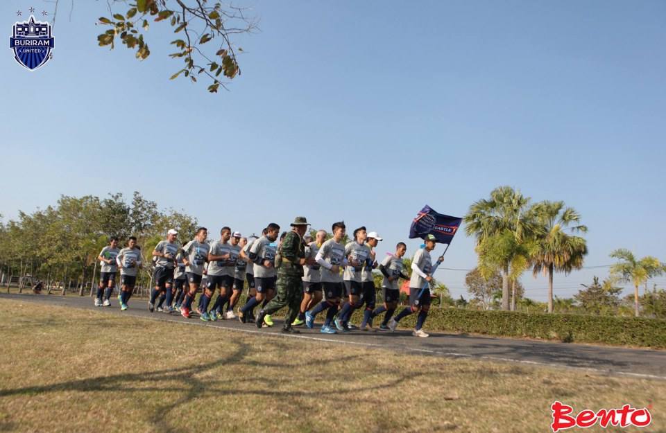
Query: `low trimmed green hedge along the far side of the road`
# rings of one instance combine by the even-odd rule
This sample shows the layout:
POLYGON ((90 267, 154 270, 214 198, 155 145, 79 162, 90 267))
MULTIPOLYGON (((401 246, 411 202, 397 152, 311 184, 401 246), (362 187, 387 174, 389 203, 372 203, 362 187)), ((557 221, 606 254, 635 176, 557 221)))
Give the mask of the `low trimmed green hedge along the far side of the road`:
MULTIPOLYGON (((400 310, 402 306, 398 307, 398 312, 400 310)), ((378 316, 375 324, 379 324, 382 317, 378 316)), ((356 311, 352 321, 358 324, 361 319, 362 312, 356 311)), ((400 321, 403 327, 413 327, 415 324, 416 315, 409 315, 400 321)), ((498 337, 531 337, 566 343, 666 348, 666 320, 641 317, 432 308, 424 329, 498 337)))

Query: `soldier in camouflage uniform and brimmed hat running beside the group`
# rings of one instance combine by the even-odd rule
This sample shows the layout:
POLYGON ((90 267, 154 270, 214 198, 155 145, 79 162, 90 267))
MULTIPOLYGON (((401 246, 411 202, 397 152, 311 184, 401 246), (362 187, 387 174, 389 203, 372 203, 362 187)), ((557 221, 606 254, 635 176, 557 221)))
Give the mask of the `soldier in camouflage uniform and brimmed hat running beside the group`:
POLYGON ((287 317, 284 318, 283 333, 298 333, 291 328, 293 319, 296 319, 300 311, 300 303, 303 298, 301 278, 303 276, 303 265, 314 265, 314 260, 305 257, 305 240, 303 235, 309 226, 305 217, 296 217, 291 224, 291 231, 284 237, 282 245, 275 257, 275 267, 278 268, 278 296, 273 298, 266 307, 259 310, 255 324, 261 328, 264 316, 271 315, 285 306, 289 306, 287 317))

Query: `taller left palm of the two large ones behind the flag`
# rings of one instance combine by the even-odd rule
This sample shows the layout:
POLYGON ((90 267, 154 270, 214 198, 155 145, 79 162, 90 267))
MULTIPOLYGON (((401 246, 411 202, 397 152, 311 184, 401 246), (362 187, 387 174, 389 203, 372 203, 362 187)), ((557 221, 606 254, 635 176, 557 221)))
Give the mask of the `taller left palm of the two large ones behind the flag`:
POLYGON ((479 265, 494 266, 502 274, 502 310, 509 310, 509 270, 515 254, 499 251, 501 254, 495 254, 496 260, 490 260, 484 255, 491 251, 489 242, 506 242, 507 233, 515 245, 520 245, 532 236, 537 227, 533 223, 533 215, 528 211, 528 204, 529 197, 524 197, 520 191, 510 186, 500 186, 490 192, 489 200, 473 203, 463 218, 467 235, 477 239, 479 265))

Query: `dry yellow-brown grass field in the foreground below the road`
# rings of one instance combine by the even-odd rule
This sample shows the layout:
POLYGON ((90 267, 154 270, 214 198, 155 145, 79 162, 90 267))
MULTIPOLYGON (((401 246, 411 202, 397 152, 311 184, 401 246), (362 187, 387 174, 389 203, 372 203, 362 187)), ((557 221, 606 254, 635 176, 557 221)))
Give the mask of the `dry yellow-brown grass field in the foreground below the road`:
POLYGON ((651 404, 666 430, 658 381, 8 300, 0 329, 0 432, 548 432, 556 399, 651 404))

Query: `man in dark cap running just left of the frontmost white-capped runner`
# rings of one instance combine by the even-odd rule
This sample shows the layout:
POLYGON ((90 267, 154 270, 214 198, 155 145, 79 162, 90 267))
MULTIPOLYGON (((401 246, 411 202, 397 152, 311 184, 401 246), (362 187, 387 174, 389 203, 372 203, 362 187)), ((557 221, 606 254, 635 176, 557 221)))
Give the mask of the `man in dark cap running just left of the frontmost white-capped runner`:
POLYGON ((345 294, 348 299, 343 303, 338 317, 335 319, 335 327, 344 333, 349 332, 349 328, 347 327, 348 319, 351 317, 354 307, 359 303, 361 293, 363 292, 361 273, 366 260, 370 256, 370 248, 365 245, 366 236, 366 228, 359 227, 354 231, 354 240, 345 245, 345 257, 349 265, 345 267, 343 281, 345 284, 345 294))

